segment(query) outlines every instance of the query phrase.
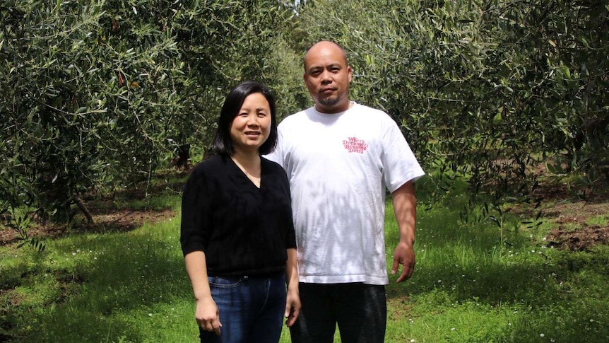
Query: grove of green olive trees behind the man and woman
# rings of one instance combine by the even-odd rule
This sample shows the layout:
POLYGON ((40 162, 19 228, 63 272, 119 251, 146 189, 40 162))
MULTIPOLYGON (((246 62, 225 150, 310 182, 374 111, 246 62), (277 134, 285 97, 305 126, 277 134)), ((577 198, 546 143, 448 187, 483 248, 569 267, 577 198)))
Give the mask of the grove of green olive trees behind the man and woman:
POLYGON ((227 91, 311 104, 302 56, 338 42, 352 98, 401 124, 424 168, 495 199, 533 167, 609 180, 609 5, 585 0, 3 0, 0 214, 66 222, 82 194, 199 160, 227 91))

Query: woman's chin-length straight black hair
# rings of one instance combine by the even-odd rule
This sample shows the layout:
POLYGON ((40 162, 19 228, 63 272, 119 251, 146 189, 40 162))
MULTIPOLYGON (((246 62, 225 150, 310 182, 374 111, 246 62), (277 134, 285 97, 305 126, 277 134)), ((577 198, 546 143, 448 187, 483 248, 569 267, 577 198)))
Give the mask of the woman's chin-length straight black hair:
POLYGON ((248 95, 254 93, 261 93, 264 98, 268 101, 269 107, 271 107, 271 133, 268 135, 268 139, 260 146, 259 153, 266 155, 267 153, 273 152, 277 145, 277 115, 275 98, 271 94, 271 91, 266 88, 262 83, 256 81, 244 81, 238 84, 235 88, 232 88, 228 93, 222 110, 220 111, 220 117, 218 118, 218 129, 215 130, 215 137, 213 139, 212 151, 218 155, 231 156, 235 153, 235 146, 232 146, 232 140, 230 139, 230 125, 235 117, 239 115, 239 110, 243 105, 243 101, 248 95))

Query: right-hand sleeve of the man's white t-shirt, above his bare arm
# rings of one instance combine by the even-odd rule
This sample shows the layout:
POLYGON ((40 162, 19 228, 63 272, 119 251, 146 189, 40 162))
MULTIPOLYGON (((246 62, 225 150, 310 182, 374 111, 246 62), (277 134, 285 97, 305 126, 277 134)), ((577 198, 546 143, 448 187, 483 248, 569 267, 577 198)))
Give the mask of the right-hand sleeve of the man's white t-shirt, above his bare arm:
POLYGON ((417 180, 425 175, 417 158, 410 149, 398 124, 387 116, 386 134, 382 137, 383 175, 389 192, 394 192, 410 180, 417 180))

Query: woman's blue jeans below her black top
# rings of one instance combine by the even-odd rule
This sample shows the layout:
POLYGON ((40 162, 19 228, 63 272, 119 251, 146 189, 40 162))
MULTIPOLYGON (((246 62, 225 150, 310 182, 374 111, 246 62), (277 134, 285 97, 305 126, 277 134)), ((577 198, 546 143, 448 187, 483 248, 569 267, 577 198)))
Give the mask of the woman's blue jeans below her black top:
POLYGON ((209 277, 211 296, 218 305, 220 336, 199 327, 201 343, 279 342, 285 310, 285 275, 209 277))

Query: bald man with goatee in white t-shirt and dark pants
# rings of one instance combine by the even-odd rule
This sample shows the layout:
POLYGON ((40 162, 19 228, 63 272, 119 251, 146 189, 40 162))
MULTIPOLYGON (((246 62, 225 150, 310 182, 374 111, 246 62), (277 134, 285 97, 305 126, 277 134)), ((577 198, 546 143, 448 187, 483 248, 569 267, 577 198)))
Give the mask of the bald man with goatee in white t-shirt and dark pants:
POLYGON ((400 241, 392 274, 408 279, 415 266, 413 181, 425 173, 396 122, 349 100, 353 71, 345 50, 321 41, 305 54, 305 84, 315 106, 279 125, 268 158, 290 180, 298 267, 300 318, 292 342, 383 342, 385 188, 392 194, 400 241))

